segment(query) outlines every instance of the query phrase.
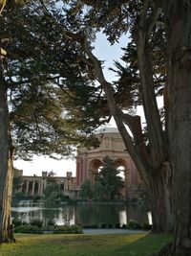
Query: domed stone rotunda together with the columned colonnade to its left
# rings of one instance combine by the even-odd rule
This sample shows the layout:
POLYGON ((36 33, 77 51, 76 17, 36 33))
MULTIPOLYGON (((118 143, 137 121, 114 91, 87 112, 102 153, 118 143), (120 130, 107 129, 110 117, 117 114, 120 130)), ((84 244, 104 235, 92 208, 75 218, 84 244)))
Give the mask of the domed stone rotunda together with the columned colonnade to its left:
MULTIPOLYGON (((76 198, 81 184, 90 179, 93 183, 98 169, 102 166, 102 160, 109 156, 114 160, 115 168, 119 168, 124 176, 125 187, 122 191, 123 198, 136 198, 138 196, 138 184, 141 179, 138 170, 126 151, 122 138, 117 128, 99 128, 96 137, 100 146, 96 149, 78 148, 76 156, 76 177, 72 172, 66 176, 52 176, 52 182, 60 185, 64 195, 76 198)), ((41 176, 23 175, 22 170, 17 170, 15 175, 22 176, 23 183, 18 191, 27 196, 43 196, 48 184, 48 173, 42 172, 41 176)))

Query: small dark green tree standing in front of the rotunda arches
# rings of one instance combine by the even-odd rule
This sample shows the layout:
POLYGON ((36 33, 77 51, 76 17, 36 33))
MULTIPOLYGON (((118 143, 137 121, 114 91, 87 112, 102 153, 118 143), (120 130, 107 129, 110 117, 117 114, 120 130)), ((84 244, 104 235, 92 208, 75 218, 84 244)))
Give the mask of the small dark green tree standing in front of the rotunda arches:
POLYGON ((109 156, 105 156, 103 158, 103 167, 96 175, 95 191, 98 190, 99 198, 101 191, 104 191, 101 199, 115 199, 120 196, 121 189, 124 187, 124 181, 119 176, 119 173, 114 166, 114 161, 109 156), (104 188, 104 190, 101 188, 104 188))

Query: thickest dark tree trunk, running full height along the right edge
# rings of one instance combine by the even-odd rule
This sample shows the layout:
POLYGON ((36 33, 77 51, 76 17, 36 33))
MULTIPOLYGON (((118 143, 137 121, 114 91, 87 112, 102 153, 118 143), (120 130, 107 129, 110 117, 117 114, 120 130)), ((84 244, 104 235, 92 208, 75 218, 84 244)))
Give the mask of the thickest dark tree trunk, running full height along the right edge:
POLYGON ((170 0, 167 12, 168 124, 175 210, 173 255, 191 255, 191 3, 170 0))

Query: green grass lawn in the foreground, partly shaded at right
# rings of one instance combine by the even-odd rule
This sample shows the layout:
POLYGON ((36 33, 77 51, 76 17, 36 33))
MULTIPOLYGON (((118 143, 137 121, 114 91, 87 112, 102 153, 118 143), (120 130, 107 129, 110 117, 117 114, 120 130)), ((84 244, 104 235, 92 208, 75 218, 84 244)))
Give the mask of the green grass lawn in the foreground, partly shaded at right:
POLYGON ((172 240, 170 234, 16 235, 0 244, 0 256, 147 256, 172 240))

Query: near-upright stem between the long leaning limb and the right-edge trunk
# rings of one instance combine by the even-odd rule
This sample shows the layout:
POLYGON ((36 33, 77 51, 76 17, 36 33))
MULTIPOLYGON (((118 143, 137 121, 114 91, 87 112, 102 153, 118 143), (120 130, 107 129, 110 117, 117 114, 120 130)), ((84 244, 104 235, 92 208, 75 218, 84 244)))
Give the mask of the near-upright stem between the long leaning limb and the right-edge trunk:
POLYGON ((149 18, 146 12, 141 12, 141 25, 138 26, 138 39, 136 41, 138 47, 138 68, 140 74, 140 93, 142 97, 142 105, 144 108, 145 118, 148 128, 149 145, 152 149, 151 166, 154 170, 159 170, 160 163, 167 157, 166 146, 163 138, 163 132, 159 117, 159 109, 157 105, 155 86, 153 81, 153 68, 149 52, 149 37, 154 22, 159 16, 157 10, 153 16, 153 22, 150 26, 149 18))

